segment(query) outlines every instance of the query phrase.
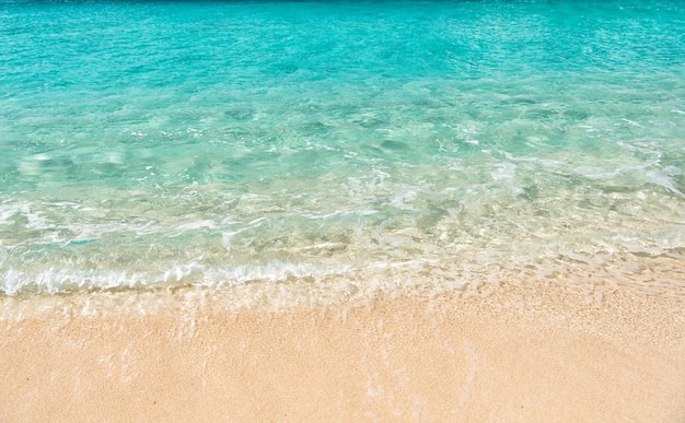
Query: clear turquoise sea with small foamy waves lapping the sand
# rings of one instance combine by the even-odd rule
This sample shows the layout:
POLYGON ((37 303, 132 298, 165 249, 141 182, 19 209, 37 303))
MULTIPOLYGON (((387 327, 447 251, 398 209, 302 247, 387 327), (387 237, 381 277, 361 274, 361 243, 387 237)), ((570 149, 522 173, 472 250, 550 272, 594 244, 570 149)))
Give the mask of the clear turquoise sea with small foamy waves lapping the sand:
POLYGON ((2 2, 0 291, 685 295, 684 27, 678 1, 2 2))

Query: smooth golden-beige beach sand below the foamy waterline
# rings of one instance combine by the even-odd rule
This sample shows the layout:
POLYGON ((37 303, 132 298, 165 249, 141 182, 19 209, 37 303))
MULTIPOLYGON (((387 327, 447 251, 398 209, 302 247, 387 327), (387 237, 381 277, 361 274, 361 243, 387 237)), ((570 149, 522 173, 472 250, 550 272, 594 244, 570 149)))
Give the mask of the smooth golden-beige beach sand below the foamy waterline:
POLYGON ((685 306, 632 289, 148 315, 86 297, 2 299, 0 421, 685 421, 685 306))

